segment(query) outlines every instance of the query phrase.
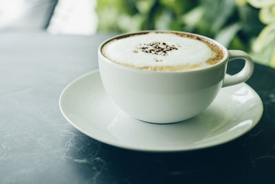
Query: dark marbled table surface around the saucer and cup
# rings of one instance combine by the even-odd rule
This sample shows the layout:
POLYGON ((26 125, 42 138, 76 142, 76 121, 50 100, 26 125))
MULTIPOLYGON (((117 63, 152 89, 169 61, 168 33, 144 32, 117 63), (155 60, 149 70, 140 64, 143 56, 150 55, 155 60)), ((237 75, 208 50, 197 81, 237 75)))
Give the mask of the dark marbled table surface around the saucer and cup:
MULTIPOLYGON (((98 68, 109 35, 0 32, 0 183, 275 183, 275 70, 247 82, 264 112, 239 139, 192 152, 146 153, 100 143, 62 116, 58 98, 98 68)), ((236 72, 242 62, 232 62, 236 72)))

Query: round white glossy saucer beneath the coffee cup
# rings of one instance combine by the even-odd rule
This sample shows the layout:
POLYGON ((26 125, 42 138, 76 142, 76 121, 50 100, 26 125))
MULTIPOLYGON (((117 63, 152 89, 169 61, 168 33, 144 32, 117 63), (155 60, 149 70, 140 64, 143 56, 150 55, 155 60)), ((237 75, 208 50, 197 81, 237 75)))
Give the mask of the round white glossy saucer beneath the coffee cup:
MULTIPOLYGON (((115 82, 115 81, 114 81, 115 82)), ((131 150, 175 152, 232 141, 254 127, 263 103, 245 83, 222 88, 198 116, 171 124, 153 124, 124 114, 104 91, 98 70, 63 90, 61 112, 76 129, 98 141, 131 150)))

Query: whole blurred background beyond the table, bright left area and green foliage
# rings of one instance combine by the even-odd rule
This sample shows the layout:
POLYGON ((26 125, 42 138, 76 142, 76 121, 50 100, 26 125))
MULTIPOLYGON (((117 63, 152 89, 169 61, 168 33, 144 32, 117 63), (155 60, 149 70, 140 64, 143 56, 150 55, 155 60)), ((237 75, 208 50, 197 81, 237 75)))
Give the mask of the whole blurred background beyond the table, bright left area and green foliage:
POLYGON ((14 30, 194 32, 275 68, 275 0, 0 0, 0 34, 14 30))

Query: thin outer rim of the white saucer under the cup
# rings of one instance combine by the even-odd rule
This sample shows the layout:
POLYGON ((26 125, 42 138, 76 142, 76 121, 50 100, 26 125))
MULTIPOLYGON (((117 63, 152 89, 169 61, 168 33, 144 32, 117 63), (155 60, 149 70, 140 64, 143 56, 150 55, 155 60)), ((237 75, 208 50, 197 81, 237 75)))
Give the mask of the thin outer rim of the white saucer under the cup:
MULTIPOLYGON (((229 139, 226 139, 226 141, 220 141, 220 142, 214 142, 214 143, 208 143, 208 144, 203 144, 199 147, 175 147, 172 149, 168 149, 168 150, 162 150, 162 149, 150 149, 149 147, 143 147, 143 148, 139 148, 139 147, 135 147, 135 146, 129 146, 129 145, 121 145, 118 143, 112 143, 110 141, 107 141, 105 139, 98 139, 97 137, 91 136, 89 134, 89 132, 87 132, 86 130, 83 130, 83 128, 78 127, 78 125, 76 125, 74 122, 72 122, 66 115, 65 112, 63 111, 62 105, 61 105, 61 101, 63 98, 63 95, 65 94, 65 92, 67 91, 67 89, 73 85, 74 83, 76 83, 77 81, 80 81, 80 79, 83 79, 89 75, 92 75, 94 73, 99 73, 99 70, 92 70, 91 72, 87 72, 81 76, 79 76, 78 78, 74 79, 72 82, 70 82, 68 85, 66 85, 66 87, 63 89, 63 91, 61 92, 61 95, 59 96, 59 108, 61 110, 61 114, 63 114, 64 118, 73 126, 76 128, 76 130, 82 132, 83 134, 85 134, 86 136, 91 137, 92 139, 95 139, 96 141, 100 141, 101 143, 106 143, 107 145, 111 145, 111 146, 115 146, 115 147, 120 147, 122 149, 126 149, 126 150, 134 150, 134 151, 140 151, 140 152, 188 152, 188 151, 195 151, 195 150, 203 150, 206 148, 210 148, 210 147, 216 147, 218 145, 223 145, 225 143, 229 143, 230 141, 234 141, 235 139, 240 138, 241 136, 243 136, 244 134, 250 132, 250 130, 252 130, 261 120, 261 117, 263 116, 263 101, 261 100, 261 97, 259 96, 259 94, 253 90, 253 88, 250 87, 250 85, 248 85, 247 83, 241 83, 243 85, 246 85, 252 92, 254 92, 254 94, 256 94, 256 99, 259 99, 259 102, 261 103, 261 112, 259 112, 259 117, 258 119, 256 119, 256 121, 254 121, 252 123, 252 125, 250 125, 245 131, 239 133, 239 134, 234 134, 234 136, 231 136, 229 139)), ((155 124, 155 125, 162 125, 162 124, 155 124)))

